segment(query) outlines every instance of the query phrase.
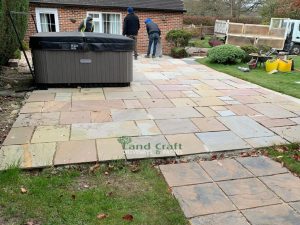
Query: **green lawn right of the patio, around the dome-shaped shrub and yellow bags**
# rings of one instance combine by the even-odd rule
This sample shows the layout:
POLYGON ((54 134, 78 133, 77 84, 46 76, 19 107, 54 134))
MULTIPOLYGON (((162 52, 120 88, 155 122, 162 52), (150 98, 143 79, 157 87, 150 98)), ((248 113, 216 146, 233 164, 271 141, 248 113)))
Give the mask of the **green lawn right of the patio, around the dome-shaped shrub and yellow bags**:
MULTIPOLYGON (((300 69, 300 56, 295 57, 295 68, 300 69)), ((296 98, 300 98, 300 72, 293 71, 290 73, 277 73, 277 74, 268 74, 265 72, 263 66, 251 70, 250 72, 242 72, 238 70, 239 66, 248 67, 247 64, 238 64, 238 65, 222 65, 209 62, 207 58, 197 60, 199 63, 204 64, 210 68, 213 68, 217 71, 227 73, 234 77, 258 84, 262 87, 269 88, 271 90, 281 92, 283 94, 291 95, 296 98)))

